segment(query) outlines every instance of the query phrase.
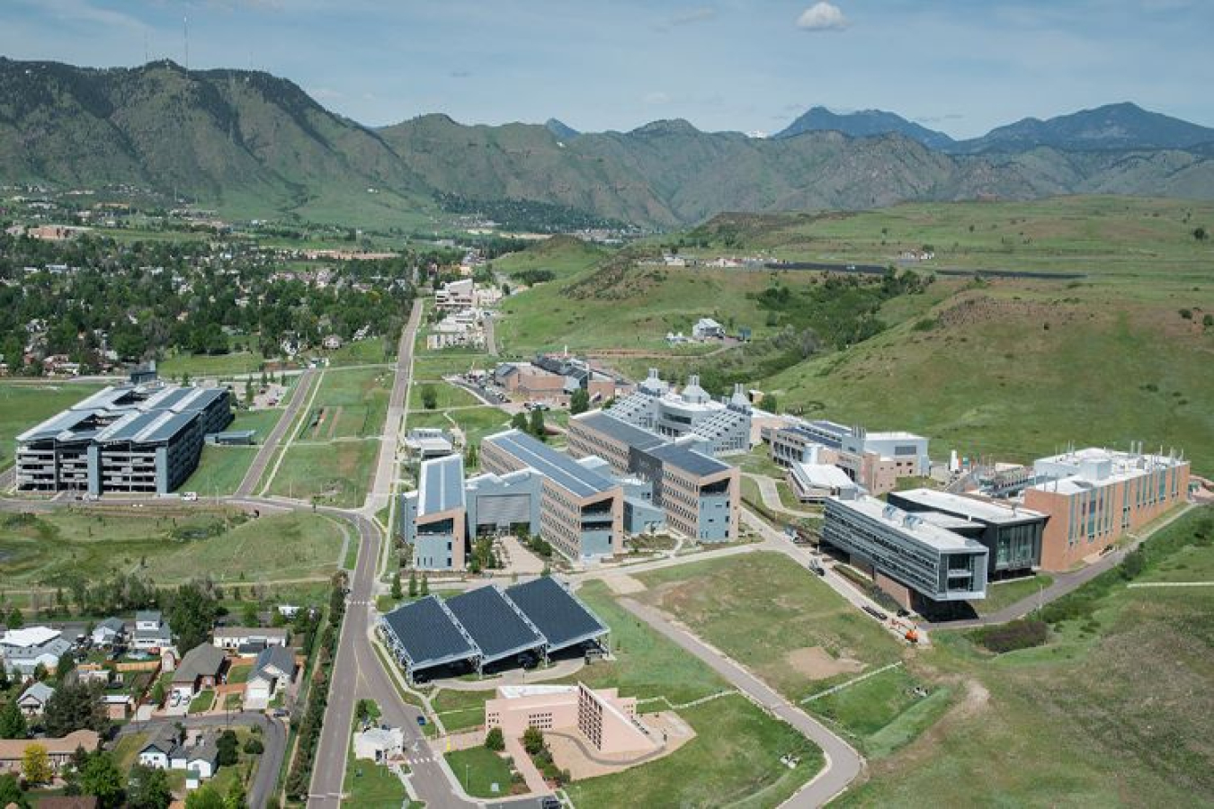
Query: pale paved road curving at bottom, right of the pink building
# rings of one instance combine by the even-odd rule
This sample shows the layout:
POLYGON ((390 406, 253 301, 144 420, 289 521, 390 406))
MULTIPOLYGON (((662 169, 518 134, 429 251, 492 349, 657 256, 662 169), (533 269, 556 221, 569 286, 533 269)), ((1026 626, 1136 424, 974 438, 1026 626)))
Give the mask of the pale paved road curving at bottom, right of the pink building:
POLYGON ((782 697, 767 684, 738 666, 724 654, 713 649, 696 636, 670 622, 662 613, 630 598, 620 598, 619 604, 686 651, 704 661, 713 671, 727 679, 751 700, 796 728, 826 754, 826 764, 818 775, 784 802, 785 807, 821 807, 847 788, 864 770, 864 759, 851 745, 830 733, 810 714, 782 697))

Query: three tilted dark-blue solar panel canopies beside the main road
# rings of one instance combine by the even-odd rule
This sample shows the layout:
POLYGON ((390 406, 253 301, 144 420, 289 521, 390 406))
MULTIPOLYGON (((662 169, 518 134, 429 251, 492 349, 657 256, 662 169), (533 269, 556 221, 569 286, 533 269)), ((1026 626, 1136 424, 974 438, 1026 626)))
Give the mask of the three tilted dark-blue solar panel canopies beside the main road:
POLYGON ((384 616, 409 671, 460 660, 492 663, 532 649, 560 651, 607 634, 565 587, 544 576, 505 591, 480 587, 442 603, 435 596, 384 616))

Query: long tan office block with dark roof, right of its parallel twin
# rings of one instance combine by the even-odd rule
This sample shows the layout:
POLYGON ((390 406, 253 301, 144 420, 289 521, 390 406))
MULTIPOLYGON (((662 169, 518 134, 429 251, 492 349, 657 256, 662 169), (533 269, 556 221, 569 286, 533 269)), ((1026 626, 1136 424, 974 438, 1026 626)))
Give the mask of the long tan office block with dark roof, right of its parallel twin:
POLYGON ((615 418, 614 411, 571 418, 569 454, 602 457, 614 474, 637 479, 640 500, 660 508, 666 525, 680 534, 702 542, 737 539, 738 468, 698 451, 704 443, 693 435, 670 440, 615 418))

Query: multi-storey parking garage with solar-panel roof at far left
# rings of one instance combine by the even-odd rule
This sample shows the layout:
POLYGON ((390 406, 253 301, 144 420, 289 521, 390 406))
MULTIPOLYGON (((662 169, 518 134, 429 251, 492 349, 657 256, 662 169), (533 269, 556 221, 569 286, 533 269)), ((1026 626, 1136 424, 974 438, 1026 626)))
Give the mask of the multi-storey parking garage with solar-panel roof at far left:
POLYGON ((17 488, 166 494, 231 422, 226 388, 110 386, 17 437, 17 488))

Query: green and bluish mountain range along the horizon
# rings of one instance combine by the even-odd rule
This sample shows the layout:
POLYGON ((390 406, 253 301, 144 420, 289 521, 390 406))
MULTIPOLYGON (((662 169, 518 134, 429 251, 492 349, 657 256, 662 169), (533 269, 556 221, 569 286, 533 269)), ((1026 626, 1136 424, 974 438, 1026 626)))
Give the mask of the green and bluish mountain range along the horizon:
POLYGON ((261 72, 0 58, 0 182, 140 184, 232 215, 363 224, 442 209, 514 211, 518 227, 577 213, 677 228, 721 211, 907 200, 1210 199, 1212 144, 1214 131, 1133 104, 959 142, 891 113, 819 108, 772 138, 685 120, 578 132, 441 114, 371 129, 261 72))

